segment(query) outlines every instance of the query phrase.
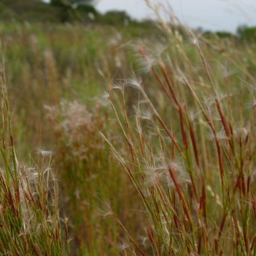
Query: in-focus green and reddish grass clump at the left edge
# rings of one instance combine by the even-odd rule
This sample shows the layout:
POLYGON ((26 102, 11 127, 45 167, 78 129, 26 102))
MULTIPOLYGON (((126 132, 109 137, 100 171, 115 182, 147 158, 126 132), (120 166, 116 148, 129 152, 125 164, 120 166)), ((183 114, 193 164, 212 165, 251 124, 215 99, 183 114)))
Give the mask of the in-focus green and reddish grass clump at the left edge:
POLYGON ((60 218, 51 152, 40 151, 33 168, 16 157, 1 45, 0 54, 0 253, 69 255, 67 218, 60 218))

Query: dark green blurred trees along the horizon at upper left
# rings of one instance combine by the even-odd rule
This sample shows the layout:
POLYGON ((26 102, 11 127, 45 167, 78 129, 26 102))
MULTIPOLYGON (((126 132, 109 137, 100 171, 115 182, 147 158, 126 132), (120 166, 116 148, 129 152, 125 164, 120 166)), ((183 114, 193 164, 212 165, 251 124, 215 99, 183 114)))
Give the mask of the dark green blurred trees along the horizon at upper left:
POLYGON ((93 0, 1 0, 0 20, 29 22, 83 22, 110 25, 137 23, 124 11, 99 13, 93 0))

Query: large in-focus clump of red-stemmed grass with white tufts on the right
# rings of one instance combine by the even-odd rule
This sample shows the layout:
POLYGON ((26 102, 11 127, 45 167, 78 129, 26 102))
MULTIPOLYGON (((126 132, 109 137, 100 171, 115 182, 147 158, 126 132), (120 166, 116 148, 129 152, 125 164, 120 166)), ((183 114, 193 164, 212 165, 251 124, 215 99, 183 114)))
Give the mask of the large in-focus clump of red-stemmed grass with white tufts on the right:
POLYGON ((160 23, 169 36, 166 49, 149 54, 145 45, 138 48, 151 85, 134 76, 107 94, 131 158, 102 135, 147 212, 142 242, 111 208, 108 214, 129 238, 124 251, 255 255, 255 75, 230 52, 221 63, 226 72, 218 72, 205 57, 204 39, 184 28, 195 50, 191 58, 178 32, 160 23), (242 79, 230 74, 233 68, 242 79), (127 114, 127 86, 139 92, 133 119, 127 114), (116 89, 122 108, 116 106, 116 89), (250 102, 246 109, 244 102, 250 102))

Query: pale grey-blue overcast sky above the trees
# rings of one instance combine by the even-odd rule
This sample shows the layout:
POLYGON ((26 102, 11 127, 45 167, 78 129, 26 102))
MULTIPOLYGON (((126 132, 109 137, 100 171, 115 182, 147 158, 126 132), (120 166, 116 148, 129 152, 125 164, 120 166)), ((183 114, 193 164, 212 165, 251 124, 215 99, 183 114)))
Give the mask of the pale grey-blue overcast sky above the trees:
MULTIPOLYGON (((154 0, 156 2, 156 0, 154 0)), ((190 27, 235 32, 238 25, 256 27, 256 0, 161 0, 168 2, 178 18, 190 27)), ((96 9, 126 10, 133 18, 153 17, 145 0, 99 0, 96 9)))

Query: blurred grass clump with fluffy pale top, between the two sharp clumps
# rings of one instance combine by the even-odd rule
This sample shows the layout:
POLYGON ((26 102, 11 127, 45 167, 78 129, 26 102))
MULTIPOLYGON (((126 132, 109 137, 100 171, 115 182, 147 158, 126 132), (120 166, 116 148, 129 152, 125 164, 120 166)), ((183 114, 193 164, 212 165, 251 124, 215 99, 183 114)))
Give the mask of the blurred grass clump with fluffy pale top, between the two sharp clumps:
MULTIPOLYGON (((69 230, 74 237, 73 253, 78 255, 117 255, 116 244, 123 239, 123 231, 114 220, 105 220, 102 202, 122 214, 122 221, 139 218, 140 213, 129 213, 133 196, 127 190, 125 175, 99 130, 115 137, 115 126, 108 126, 108 109, 99 100, 90 108, 77 101, 61 100, 59 105, 45 106, 48 121, 54 128, 56 166, 63 184, 64 207, 70 214, 69 230), (102 242, 104 241, 104 242, 102 242), (103 243, 103 244, 102 244, 103 243)), ((128 183, 129 187, 129 183, 128 183)), ((131 226, 136 233, 136 225, 131 226)))

